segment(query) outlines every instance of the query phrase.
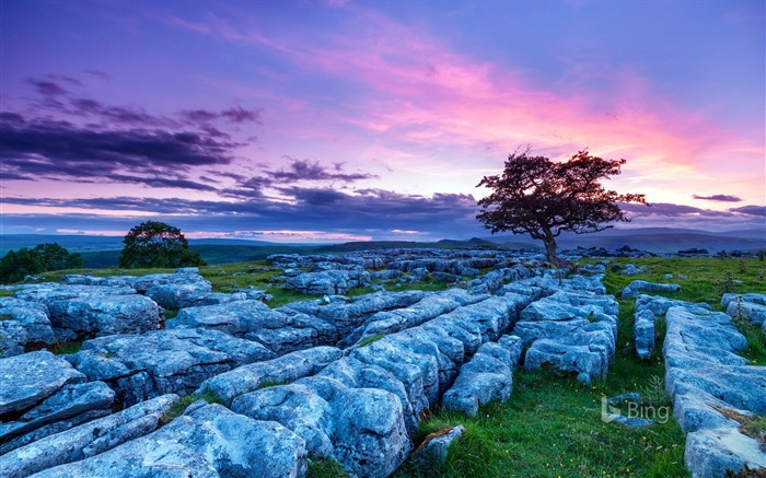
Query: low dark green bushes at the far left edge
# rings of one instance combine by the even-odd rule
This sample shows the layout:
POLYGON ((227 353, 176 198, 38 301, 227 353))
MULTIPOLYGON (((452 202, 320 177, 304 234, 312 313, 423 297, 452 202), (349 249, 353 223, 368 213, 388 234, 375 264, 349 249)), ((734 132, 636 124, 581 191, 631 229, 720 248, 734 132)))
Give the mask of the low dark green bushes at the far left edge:
POLYGON ((80 254, 71 254, 56 243, 39 244, 32 249, 9 250, 0 259, 0 281, 18 282, 25 276, 79 267, 82 267, 80 254))

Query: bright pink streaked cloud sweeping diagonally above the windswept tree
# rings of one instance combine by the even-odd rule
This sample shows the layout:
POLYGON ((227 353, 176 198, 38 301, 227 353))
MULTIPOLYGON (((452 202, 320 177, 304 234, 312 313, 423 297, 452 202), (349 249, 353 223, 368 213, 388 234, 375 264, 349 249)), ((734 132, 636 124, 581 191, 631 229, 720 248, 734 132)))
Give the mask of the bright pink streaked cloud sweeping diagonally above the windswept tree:
POLYGON ((427 31, 378 12, 352 11, 353 26, 323 31, 316 42, 306 42, 311 32, 266 35, 255 18, 240 23, 247 26, 216 18, 205 34, 268 48, 309 73, 367 90, 357 93, 360 97, 338 98, 337 110, 323 110, 322 121, 305 115, 311 103, 301 103, 285 124, 306 138, 343 137, 355 148, 367 143, 360 148, 386 152, 373 158, 394 168, 438 168, 472 155, 474 171, 481 172, 498 167, 520 144, 561 159, 590 147, 595 154, 627 159, 626 174, 616 182, 642 180, 657 196, 650 199, 669 200, 670 183, 688 187, 686 198, 705 184, 715 188, 736 164, 750 172, 742 194, 766 200, 763 133, 735 131, 705 112, 682 109, 636 69, 573 63, 566 80, 534 83, 513 66, 455 53, 427 31), (588 89, 593 79, 608 86, 588 89), (696 184, 680 184, 678 177, 696 184))

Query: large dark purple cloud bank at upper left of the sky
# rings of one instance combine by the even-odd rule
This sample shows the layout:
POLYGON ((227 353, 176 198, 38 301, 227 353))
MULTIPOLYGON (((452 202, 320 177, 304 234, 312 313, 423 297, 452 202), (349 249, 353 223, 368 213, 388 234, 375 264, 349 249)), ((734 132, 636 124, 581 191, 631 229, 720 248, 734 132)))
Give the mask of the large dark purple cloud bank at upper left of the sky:
MULTIPOLYGON (((88 73, 107 77, 95 70, 88 73)), ((62 84, 82 83, 61 74, 27 82, 36 93, 31 106, 37 113, 0 114, 3 179, 126 183, 214 191, 212 182, 194 177, 194 170, 207 166, 218 174, 221 166, 232 162, 234 150, 244 145, 214 121, 259 123, 259 109, 241 106, 221 112, 194 109, 166 117, 140 107, 108 105, 72 94, 62 84)))

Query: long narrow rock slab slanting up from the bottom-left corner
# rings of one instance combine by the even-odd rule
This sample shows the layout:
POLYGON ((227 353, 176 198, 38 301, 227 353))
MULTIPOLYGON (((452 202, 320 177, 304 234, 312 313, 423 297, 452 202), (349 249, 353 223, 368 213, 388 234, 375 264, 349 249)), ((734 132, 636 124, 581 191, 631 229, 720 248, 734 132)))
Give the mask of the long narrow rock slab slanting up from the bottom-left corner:
MULTIPOLYGON (((0 476, 25 477, 98 455, 120 443, 147 435, 156 430, 160 417, 177 400, 177 395, 163 395, 25 444, 0 455, 0 476)), ((106 474, 108 469, 101 473, 106 474)))

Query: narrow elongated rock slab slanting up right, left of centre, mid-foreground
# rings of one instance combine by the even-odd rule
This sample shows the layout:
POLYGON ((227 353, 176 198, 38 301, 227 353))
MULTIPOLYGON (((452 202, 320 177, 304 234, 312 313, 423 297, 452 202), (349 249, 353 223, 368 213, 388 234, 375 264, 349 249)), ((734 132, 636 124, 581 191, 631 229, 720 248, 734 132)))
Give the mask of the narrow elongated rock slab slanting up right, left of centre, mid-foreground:
POLYGON ((335 347, 300 350, 272 360, 251 363, 202 382, 200 392, 212 392, 225 404, 267 382, 287 383, 313 375, 343 357, 335 347))

